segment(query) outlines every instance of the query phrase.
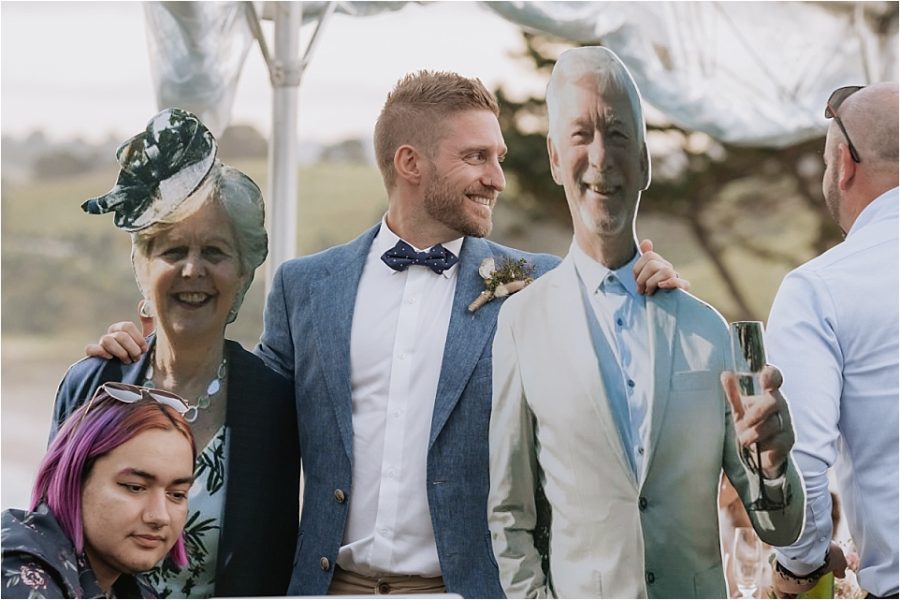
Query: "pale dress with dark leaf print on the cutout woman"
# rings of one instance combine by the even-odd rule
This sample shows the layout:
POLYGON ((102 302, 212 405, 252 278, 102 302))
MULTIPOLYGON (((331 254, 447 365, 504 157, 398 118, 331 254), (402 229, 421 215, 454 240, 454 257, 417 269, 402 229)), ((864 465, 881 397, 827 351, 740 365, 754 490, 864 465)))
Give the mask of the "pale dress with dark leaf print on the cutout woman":
POLYGON ((188 518, 184 526, 188 565, 179 569, 164 561, 147 572, 160 598, 212 598, 215 595, 227 456, 225 427, 222 426, 197 457, 194 483, 188 492, 188 518))

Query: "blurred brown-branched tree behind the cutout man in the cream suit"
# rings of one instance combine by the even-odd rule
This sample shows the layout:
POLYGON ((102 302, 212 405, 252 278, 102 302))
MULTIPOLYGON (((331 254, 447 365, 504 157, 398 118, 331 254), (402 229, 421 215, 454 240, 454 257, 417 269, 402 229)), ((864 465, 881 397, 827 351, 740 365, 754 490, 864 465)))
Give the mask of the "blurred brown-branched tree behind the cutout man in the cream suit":
MULTIPOLYGON (((523 33, 523 58, 546 74, 571 44, 523 33)), ((543 98, 510 99, 496 91, 500 125, 509 153, 504 170, 515 182, 510 201, 535 218, 568 223, 561 187, 547 161, 547 114, 543 98)), ((735 255, 796 266, 840 240, 821 198, 821 138, 785 149, 723 144, 700 132, 664 121, 648 122, 653 182, 641 198, 641 214, 664 215, 687 226, 692 242, 709 261, 734 306, 736 319, 759 319, 748 301, 752 282, 741 281, 735 255), (802 243, 796 224, 809 224, 802 243)))

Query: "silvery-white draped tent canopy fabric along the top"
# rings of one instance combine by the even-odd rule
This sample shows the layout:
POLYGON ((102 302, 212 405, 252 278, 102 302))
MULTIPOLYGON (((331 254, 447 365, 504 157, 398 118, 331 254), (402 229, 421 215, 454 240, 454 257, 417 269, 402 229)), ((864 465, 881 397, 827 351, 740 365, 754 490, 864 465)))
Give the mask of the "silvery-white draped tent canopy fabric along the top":
MULTIPOLYGON (((327 2, 304 2, 304 21, 327 2)), ((365 18, 406 2, 337 2, 365 18)), ((897 79, 895 2, 481 2, 532 32, 603 45, 646 103, 727 143, 783 147, 821 136, 841 85, 897 79)), ((227 126, 253 36, 245 2, 148 2, 157 102, 227 126)), ((262 16, 270 12, 265 3, 262 16)))

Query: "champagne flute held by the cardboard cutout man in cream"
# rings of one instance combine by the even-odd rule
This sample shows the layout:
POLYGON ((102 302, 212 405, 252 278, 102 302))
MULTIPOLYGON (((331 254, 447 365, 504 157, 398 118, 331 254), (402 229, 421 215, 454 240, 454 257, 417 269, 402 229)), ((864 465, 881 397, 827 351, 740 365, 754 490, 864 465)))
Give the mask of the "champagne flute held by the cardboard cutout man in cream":
MULTIPOLYGON (((741 402, 744 409, 749 408, 747 400, 763 393, 761 381, 762 370, 766 366, 766 347, 763 341, 763 324, 761 321, 735 321, 730 326, 731 333, 731 358, 734 374, 738 380, 738 388, 741 392, 741 402)), ((752 402, 752 401, 751 401, 752 402)), ((750 510, 774 510, 779 508, 765 495, 765 485, 762 473, 762 452, 758 444, 754 444, 751 450, 744 450, 748 462, 755 463, 757 477, 759 478, 759 494, 751 505, 750 510), (755 460, 751 458, 755 455, 755 460)))

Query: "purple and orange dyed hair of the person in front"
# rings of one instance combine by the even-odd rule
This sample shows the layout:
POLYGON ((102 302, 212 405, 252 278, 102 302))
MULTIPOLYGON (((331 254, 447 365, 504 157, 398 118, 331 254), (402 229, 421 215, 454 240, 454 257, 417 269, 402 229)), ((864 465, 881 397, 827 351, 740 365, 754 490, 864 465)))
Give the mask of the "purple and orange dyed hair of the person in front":
MULTIPOLYGON (((84 551, 81 493, 94 463, 151 429, 180 432, 191 444, 191 464, 196 462, 194 435, 175 409, 152 400, 126 404, 103 399, 93 405, 82 405, 60 428, 38 467, 30 510, 46 502, 75 551, 81 554, 84 551), (90 410, 85 414, 87 409, 90 410)), ((177 566, 187 564, 183 533, 169 551, 169 558, 177 566)))

